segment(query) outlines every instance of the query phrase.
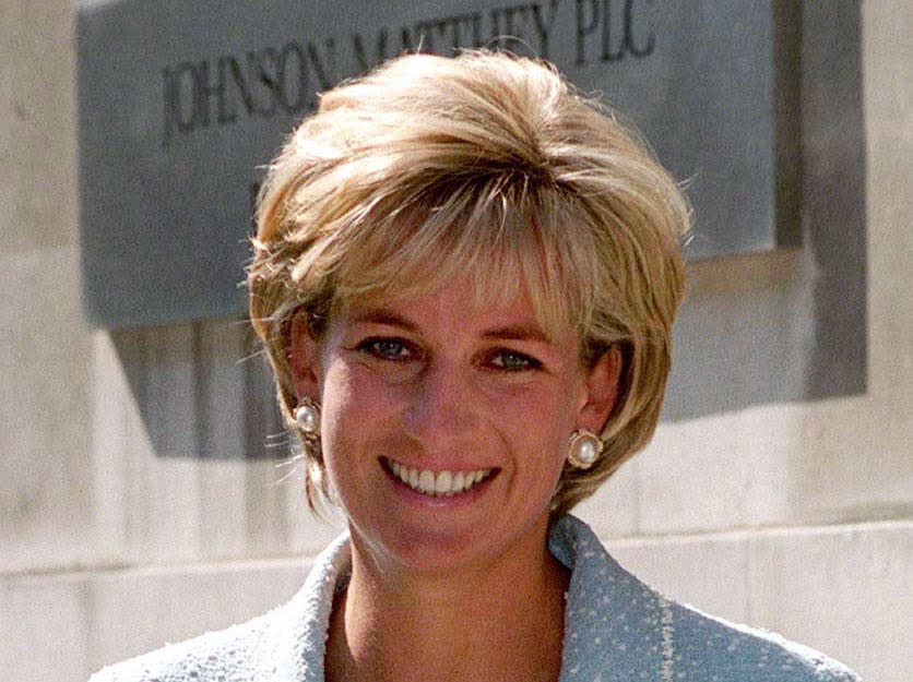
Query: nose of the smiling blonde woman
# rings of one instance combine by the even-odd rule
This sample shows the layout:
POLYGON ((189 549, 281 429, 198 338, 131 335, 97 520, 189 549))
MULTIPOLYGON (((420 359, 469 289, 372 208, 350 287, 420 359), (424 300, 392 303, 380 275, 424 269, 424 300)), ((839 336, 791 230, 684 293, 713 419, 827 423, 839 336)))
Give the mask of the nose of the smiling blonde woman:
POLYGON ((415 380, 403 416, 405 432, 431 453, 456 448, 478 422, 479 396, 472 384, 471 370, 430 363, 415 380))

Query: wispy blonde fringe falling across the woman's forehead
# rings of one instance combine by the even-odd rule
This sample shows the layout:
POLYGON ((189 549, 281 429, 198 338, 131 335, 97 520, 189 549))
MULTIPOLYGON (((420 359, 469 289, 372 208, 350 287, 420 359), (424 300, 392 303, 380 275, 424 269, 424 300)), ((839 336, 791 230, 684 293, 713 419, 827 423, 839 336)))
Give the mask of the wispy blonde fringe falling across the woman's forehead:
POLYGON ((522 292, 544 330, 586 328, 595 280, 589 231, 557 201, 484 201, 458 189, 447 201, 388 215, 377 208, 341 227, 327 250, 333 310, 438 295, 461 280, 477 309, 512 304, 522 292))

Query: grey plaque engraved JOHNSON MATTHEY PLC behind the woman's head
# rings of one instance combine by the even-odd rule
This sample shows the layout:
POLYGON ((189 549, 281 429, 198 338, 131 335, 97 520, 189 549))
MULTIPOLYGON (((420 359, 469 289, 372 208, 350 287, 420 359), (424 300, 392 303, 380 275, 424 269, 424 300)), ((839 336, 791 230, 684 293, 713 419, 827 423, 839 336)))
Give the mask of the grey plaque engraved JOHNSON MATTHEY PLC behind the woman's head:
POLYGON ((318 93, 404 50, 537 55, 601 93, 688 183, 690 258, 795 243, 793 7, 78 1, 86 314, 135 326, 242 312, 258 168, 318 93))

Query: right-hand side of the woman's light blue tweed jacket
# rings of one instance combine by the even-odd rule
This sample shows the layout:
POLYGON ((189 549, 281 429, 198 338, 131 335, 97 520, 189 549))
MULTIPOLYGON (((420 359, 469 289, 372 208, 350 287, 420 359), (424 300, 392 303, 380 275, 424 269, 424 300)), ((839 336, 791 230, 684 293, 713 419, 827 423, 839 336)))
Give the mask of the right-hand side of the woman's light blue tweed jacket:
POLYGON ((737 625, 667 599, 622 569, 570 516, 549 536, 571 570, 564 665, 570 680, 663 682, 858 682, 845 666, 773 633, 737 625))

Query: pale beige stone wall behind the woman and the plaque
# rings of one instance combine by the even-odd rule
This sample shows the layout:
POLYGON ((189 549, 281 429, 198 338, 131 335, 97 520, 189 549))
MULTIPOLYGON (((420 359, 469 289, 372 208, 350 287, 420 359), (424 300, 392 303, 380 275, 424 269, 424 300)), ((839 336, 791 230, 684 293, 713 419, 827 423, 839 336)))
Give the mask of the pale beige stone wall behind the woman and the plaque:
MULTIPOLYGON (((580 512, 669 596, 905 682, 913 7, 862 7, 866 393, 664 423, 580 512)), ((85 325, 72 31, 67 2, 0 3, 0 670, 19 682, 78 682, 260 613, 339 528, 281 457, 244 456, 284 441, 250 398, 268 384, 241 321, 85 325)), ((758 304, 751 277, 801 298, 807 255, 696 264, 689 311, 758 304)))

